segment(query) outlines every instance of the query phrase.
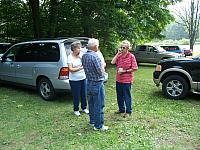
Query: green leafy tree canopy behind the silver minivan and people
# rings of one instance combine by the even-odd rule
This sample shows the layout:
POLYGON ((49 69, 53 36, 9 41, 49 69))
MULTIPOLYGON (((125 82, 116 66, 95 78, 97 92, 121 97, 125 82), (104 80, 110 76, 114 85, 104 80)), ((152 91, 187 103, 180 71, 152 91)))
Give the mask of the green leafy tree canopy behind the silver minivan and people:
POLYGON ((175 0, 1 0, 0 38, 88 36, 114 49, 122 39, 161 38, 174 20, 167 9, 175 0))

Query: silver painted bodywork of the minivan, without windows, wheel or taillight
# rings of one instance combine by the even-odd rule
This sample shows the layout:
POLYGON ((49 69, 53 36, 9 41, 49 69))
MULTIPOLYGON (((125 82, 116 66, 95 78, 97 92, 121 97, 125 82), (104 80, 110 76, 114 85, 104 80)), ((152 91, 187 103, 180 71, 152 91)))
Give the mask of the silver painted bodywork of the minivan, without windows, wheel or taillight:
MULTIPOLYGON (((86 39, 86 38, 83 38, 86 39)), ((71 53, 70 46, 66 49, 64 43, 69 41, 69 45, 74 38, 63 40, 42 40, 42 41, 28 41, 15 44, 29 44, 29 43, 58 43, 60 49, 60 59, 58 62, 0 62, 0 80, 10 81, 19 84, 37 86, 38 77, 48 78, 53 87, 61 90, 69 90, 69 79, 59 79, 59 72, 61 68, 68 67, 67 54, 71 53)), ((12 47, 13 47, 12 46, 12 47)), ((11 47, 11 48, 12 48, 11 47)), ((11 49, 10 48, 10 49, 11 49)))

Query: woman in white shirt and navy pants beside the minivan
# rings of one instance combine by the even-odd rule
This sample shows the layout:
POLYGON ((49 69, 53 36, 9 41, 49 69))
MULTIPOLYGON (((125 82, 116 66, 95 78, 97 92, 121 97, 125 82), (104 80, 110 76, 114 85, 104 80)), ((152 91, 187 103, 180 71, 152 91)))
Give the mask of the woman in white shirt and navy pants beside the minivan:
POLYGON ((68 56, 69 83, 73 96, 74 114, 80 116, 79 99, 81 99, 83 112, 89 113, 86 109, 86 76, 81 62, 81 43, 79 41, 73 42, 71 50, 72 53, 68 56))

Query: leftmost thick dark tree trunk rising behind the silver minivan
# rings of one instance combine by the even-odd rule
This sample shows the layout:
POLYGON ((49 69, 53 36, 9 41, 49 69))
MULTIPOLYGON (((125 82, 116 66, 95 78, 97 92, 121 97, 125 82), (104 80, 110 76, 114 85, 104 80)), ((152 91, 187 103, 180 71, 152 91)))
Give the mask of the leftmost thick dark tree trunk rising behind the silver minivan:
POLYGON ((32 12, 34 38, 40 38, 39 0, 29 0, 29 6, 32 12))

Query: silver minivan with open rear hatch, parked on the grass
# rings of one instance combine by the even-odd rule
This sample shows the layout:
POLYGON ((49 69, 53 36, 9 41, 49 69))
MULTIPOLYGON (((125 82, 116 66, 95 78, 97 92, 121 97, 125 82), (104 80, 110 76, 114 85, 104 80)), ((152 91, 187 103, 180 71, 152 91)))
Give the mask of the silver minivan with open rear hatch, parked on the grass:
POLYGON ((22 42, 0 57, 0 82, 28 86, 38 90, 44 100, 70 89, 67 56, 71 43, 79 40, 83 48, 89 38, 74 37, 22 42))

